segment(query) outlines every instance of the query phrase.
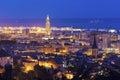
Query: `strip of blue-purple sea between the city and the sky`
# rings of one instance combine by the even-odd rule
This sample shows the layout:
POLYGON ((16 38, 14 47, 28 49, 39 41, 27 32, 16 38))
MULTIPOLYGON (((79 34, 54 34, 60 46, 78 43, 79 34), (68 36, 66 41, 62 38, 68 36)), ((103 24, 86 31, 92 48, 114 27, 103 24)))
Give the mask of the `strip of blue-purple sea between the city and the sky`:
MULTIPOLYGON (((0 19, 0 26, 45 26, 45 19, 0 19)), ((120 19, 51 19, 52 27, 119 29, 120 19)))

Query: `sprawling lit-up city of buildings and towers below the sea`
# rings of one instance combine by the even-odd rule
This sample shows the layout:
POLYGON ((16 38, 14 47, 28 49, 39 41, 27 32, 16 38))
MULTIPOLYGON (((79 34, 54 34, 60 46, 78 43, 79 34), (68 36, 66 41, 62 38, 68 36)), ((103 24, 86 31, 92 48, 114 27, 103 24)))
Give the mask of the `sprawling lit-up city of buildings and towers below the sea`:
POLYGON ((118 78, 120 34, 117 30, 51 27, 50 20, 47 16, 45 27, 0 27, 0 77, 98 80, 111 78, 114 72, 118 78))

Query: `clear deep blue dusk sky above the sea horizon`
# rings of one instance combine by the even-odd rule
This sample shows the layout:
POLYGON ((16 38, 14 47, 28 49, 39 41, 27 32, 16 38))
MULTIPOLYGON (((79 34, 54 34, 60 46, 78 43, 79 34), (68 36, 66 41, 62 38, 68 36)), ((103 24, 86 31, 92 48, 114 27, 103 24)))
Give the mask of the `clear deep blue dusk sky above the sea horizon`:
POLYGON ((0 0, 0 18, 120 18, 120 0, 0 0))

